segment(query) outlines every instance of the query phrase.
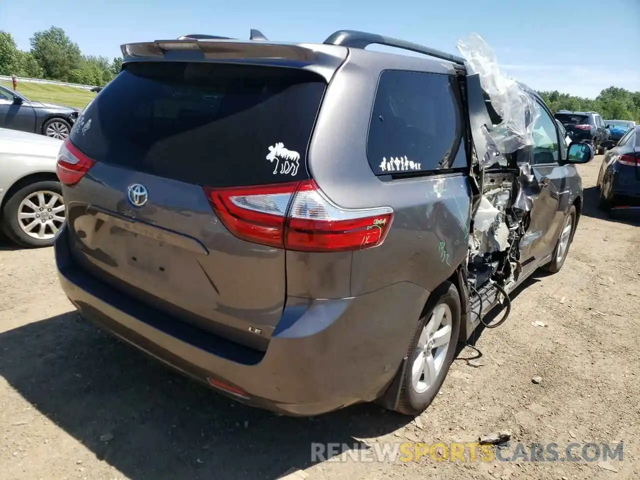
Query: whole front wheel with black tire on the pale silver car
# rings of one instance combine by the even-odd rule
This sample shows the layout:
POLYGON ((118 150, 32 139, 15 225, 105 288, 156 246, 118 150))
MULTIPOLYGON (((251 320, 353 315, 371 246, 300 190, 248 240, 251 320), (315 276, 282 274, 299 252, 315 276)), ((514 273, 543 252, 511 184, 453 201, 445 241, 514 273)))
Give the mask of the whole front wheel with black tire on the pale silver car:
POLYGON ((4 204, 1 223, 3 232, 21 246, 29 248, 51 246, 56 232, 65 219, 62 200, 60 183, 53 180, 33 182, 20 188, 4 204), (55 196, 57 196, 57 200, 54 200, 55 196), (35 205, 35 208, 29 206, 28 200, 31 200, 31 204, 35 205), (49 206, 51 211, 49 211, 49 206), (42 212, 52 217, 52 219, 46 219, 44 227, 42 226, 43 222, 40 221, 42 212), (20 213, 24 218, 19 218, 20 213), (29 221, 31 218, 33 221, 29 221), (32 225, 34 223, 35 225, 32 225), (28 233, 27 227, 32 227, 31 235, 28 233), (41 236, 38 236, 39 232, 42 232, 41 236))

